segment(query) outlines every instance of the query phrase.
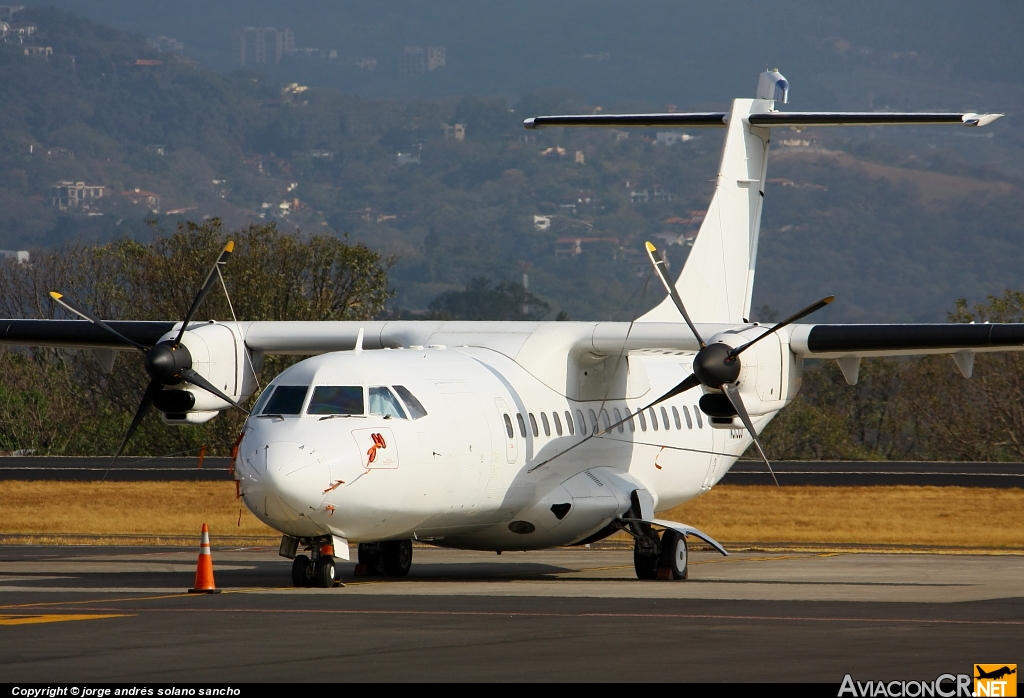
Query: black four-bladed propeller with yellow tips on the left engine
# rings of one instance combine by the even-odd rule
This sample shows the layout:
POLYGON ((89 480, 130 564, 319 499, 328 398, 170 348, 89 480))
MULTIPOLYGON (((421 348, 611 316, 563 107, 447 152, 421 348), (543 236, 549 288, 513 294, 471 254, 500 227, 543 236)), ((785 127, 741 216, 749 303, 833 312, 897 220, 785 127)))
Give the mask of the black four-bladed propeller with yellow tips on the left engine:
MULTIPOLYGON (((124 344, 138 349, 143 354, 143 363, 145 365, 145 373, 150 375, 150 384, 145 387, 145 392, 142 395, 142 401, 139 403, 138 409, 135 410, 135 416, 132 418, 131 425, 128 427, 128 432, 121 441, 121 445, 118 446, 118 450, 114 454, 114 460, 111 461, 111 465, 108 467, 106 473, 110 473, 111 468, 114 467, 118 457, 121 456, 125 446, 128 444, 128 440, 131 439, 132 434, 134 434, 135 430, 138 429, 138 425, 142 422, 142 418, 145 417, 150 407, 153 406, 153 403, 157 400, 157 396, 160 395, 161 391, 163 391, 165 385, 177 385, 182 381, 190 383, 191 385, 202 388, 208 393, 219 397, 231 406, 238 407, 247 415, 249 413, 249 410, 225 395, 215 385, 193 369, 191 354, 188 353, 188 348, 181 344, 181 339, 184 337, 188 323, 191 321, 196 311, 199 310, 200 305, 202 305, 203 301, 206 300, 206 297, 210 295, 210 291, 213 290, 214 283, 217 280, 219 269, 227 263, 227 259, 231 256, 231 252, 233 252, 233 250, 234 243, 228 241, 227 245, 225 245, 224 249, 221 251, 220 256, 217 258, 217 261, 210 269, 210 273, 207 274, 206 280, 203 282, 203 287, 200 289, 199 293, 196 294, 191 307, 188 308, 188 312, 185 313, 185 317, 181 321, 181 329, 178 331, 177 337, 175 337, 173 341, 165 340, 153 347, 146 347, 138 342, 135 342, 134 340, 128 339, 106 322, 99 319, 87 308, 76 303, 71 298, 68 298, 68 296, 56 292, 50 292, 50 298, 62 307, 67 308, 76 315, 89 320, 97 328, 104 330, 108 334, 116 337, 124 344)), ((103 473, 104 479, 106 478, 106 473, 103 473)))

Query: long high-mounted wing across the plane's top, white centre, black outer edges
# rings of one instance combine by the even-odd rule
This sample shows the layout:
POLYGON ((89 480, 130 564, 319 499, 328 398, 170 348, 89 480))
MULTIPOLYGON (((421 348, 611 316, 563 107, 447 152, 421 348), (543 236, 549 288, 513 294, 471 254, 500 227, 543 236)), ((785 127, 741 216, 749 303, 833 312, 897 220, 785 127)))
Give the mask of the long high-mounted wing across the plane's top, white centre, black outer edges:
MULTIPOLYGON (((111 320, 125 337, 152 346, 180 326, 171 321, 111 320)), ((199 326, 205 323, 194 323, 199 326)), ((232 326, 233 323, 225 323, 232 326)), ((751 325, 697 323, 703 337, 751 325)), ((319 354, 355 346, 364 331, 366 349, 443 344, 489 347, 515 357, 529 345, 565 347, 594 354, 664 349, 695 352, 696 339, 682 322, 469 322, 434 320, 253 321, 238 333, 253 351, 268 354, 319 354)), ((957 352, 1022 351, 1024 323, 964 324, 794 324, 788 334, 795 354, 804 358, 901 356, 957 352)), ((85 320, 0 320, 0 345, 129 348, 85 320)))

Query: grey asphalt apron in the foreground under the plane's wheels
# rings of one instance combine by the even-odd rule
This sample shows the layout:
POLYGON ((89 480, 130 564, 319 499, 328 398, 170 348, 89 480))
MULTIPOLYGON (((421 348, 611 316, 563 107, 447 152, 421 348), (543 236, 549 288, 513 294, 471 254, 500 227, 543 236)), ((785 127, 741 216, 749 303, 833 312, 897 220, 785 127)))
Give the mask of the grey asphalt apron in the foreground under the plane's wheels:
MULTIPOLYGON (((629 551, 417 548, 402 579, 286 586, 266 549, 0 547, 7 682, 796 681, 1017 662, 1024 557, 692 553, 639 581, 629 551)), ((829 694, 835 695, 835 694, 829 694)))

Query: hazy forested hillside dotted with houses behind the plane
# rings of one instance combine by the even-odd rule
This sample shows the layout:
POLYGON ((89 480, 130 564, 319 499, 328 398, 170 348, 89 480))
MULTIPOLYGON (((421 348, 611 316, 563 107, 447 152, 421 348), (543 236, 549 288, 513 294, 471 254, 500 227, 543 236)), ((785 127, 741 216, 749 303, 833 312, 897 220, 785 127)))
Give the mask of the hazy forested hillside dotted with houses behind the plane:
MULTIPOLYGON (((594 110, 590 83, 366 99, 287 82, 301 76, 282 72, 287 61, 269 75, 215 73, 56 10, 27 9, 17 20, 37 26, 31 43, 52 54, 0 44, 0 247, 8 249, 147 238, 154 227, 207 216, 228 226, 276 220, 396 255, 393 303, 404 309, 426 309, 477 277, 519 282, 525 269, 551 317, 628 319, 659 296, 651 285, 639 300, 643 241, 660 241, 679 268, 720 155, 717 131, 669 145, 653 131, 521 128, 528 116, 594 110), (104 195, 61 210, 51 189, 61 181, 103 186, 104 195)), ((809 78, 808 96, 791 108, 841 101, 840 83, 857 99, 876 86, 879 107, 885 99, 894 108, 999 110, 1020 99, 982 81, 946 85, 949 71, 931 58, 932 69, 905 56, 868 59, 856 43, 836 41, 820 48, 835 54, 820 67, 833 81, 809 78), (834 97, 821 96, 827 85, 834 97)), ((758 68, 713 98, 752 92, 758 68)), ((703 98, 694 87, 677 106, 708 107, 703 98)), ((836 105, 866 107, 857 99, 836 105)), ((643 99, 600 105, 663 108, 643 99)), ((769 165, 755 305, 787 311, 836 293, 816 319, 941 320, 956 298, 1018 288, 1021 181, 998 159, 971 156, 1019 149, 1013 118, 984 133, 909 129, 898 143, 892 129, 780 134, 794 144, 776 147, 769 165)))

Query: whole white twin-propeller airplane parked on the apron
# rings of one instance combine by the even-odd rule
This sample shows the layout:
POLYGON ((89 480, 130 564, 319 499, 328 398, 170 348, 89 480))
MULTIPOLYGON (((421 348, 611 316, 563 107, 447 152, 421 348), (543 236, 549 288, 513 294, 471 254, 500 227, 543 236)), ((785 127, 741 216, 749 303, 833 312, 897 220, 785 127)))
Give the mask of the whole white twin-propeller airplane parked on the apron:
MULTIPOLYGON (((538 117, 546 126, 726 129, 715 193, 679 278, 635 322, 194 322, 228 244, 182 322, 2 320, 0 344, 145 354, 151 405, 197 424, 251 396, 267 354, 314 355, 266 387, 234 457, 241 497, 283 533, 295 585, 330 586, 358 543, 362 573, 404 575, 413 540, 522 551, 635 539, 643 579, 687 576, 687 537, 656 517, 711 489, 801 385, 805 358, 848 382, 864 356, 1024 349, 1024 324, 796 324, 748 320, 772 128, 958 124, 1001 115, 776 111, 788 84, 760 76, 728 113, 538 117), (681 321, 682 320, 682 321, 681 321), (299 548, 308 555, 298 554, 299 548)), ((118 454, 124 448, 122 443, 118 454)), ((117 457, 117 456, 115 456, 117 457)), ((767 462, 767 460, 766 460, 767 462)), ((770 466, 769 466, 770 468, 770 466)))

